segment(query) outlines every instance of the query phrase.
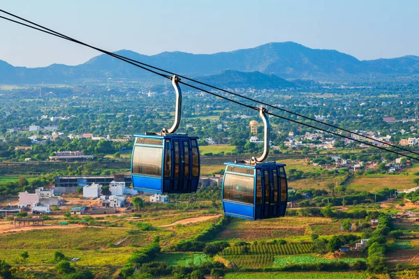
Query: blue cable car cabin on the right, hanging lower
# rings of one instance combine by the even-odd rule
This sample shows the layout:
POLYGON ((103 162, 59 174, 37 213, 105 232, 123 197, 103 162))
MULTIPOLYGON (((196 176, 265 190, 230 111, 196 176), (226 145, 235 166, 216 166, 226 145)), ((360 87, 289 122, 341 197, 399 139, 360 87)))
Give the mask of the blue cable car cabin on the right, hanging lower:
POLYGON ((284 217, 288 197, 285 164, 224 163, 223 209, 251 220, 284 217))

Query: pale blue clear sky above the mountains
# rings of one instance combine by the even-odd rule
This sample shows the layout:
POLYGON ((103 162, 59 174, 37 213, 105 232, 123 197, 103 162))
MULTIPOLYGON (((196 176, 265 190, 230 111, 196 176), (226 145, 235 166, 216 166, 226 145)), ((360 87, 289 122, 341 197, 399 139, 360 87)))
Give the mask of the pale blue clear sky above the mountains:
MULTIPOLYGON (((0 0, 0 9, 109 51, 211 54, 293 41, 360 60, 419 56, 416 0, 0 0)), ((0 19, 0 60, 13 66, 98 54, 0 19)))

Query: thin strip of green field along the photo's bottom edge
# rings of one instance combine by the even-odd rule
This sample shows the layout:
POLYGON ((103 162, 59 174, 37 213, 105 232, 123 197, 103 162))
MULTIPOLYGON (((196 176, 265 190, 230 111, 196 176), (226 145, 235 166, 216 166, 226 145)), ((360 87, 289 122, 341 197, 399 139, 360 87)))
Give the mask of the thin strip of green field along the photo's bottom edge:
POLYGON ((304 273, 228 273, 225 279, 367 279, 364 273, 304 272, 304 273))

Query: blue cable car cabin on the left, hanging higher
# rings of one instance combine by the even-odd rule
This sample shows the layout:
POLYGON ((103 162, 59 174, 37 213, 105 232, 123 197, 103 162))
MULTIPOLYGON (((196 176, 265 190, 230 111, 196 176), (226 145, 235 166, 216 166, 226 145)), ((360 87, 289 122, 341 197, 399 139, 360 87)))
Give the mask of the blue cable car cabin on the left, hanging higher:
POLYGON ((198 137, 135 135, 131 159, 134 190, 195 193, 200 174, 198 137))

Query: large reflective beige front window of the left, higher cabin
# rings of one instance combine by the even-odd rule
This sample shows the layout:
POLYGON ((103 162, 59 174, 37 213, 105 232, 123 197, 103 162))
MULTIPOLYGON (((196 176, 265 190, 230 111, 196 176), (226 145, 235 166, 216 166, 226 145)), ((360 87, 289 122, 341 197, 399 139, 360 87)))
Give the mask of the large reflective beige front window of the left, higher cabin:
POLYGON ((135 146, 133 153, 133 174, 161 176, 161 157, 163 149, 160 147, 135 146))

